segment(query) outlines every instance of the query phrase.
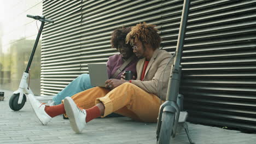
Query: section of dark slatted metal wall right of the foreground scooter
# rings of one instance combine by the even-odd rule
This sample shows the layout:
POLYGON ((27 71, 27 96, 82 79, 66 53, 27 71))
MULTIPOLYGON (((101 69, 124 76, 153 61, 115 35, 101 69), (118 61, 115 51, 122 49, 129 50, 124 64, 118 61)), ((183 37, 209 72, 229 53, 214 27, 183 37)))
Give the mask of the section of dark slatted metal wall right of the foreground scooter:
POLYGON ((190 121, 256 130, 256 1, 191 7, 183 80, 190 121))

